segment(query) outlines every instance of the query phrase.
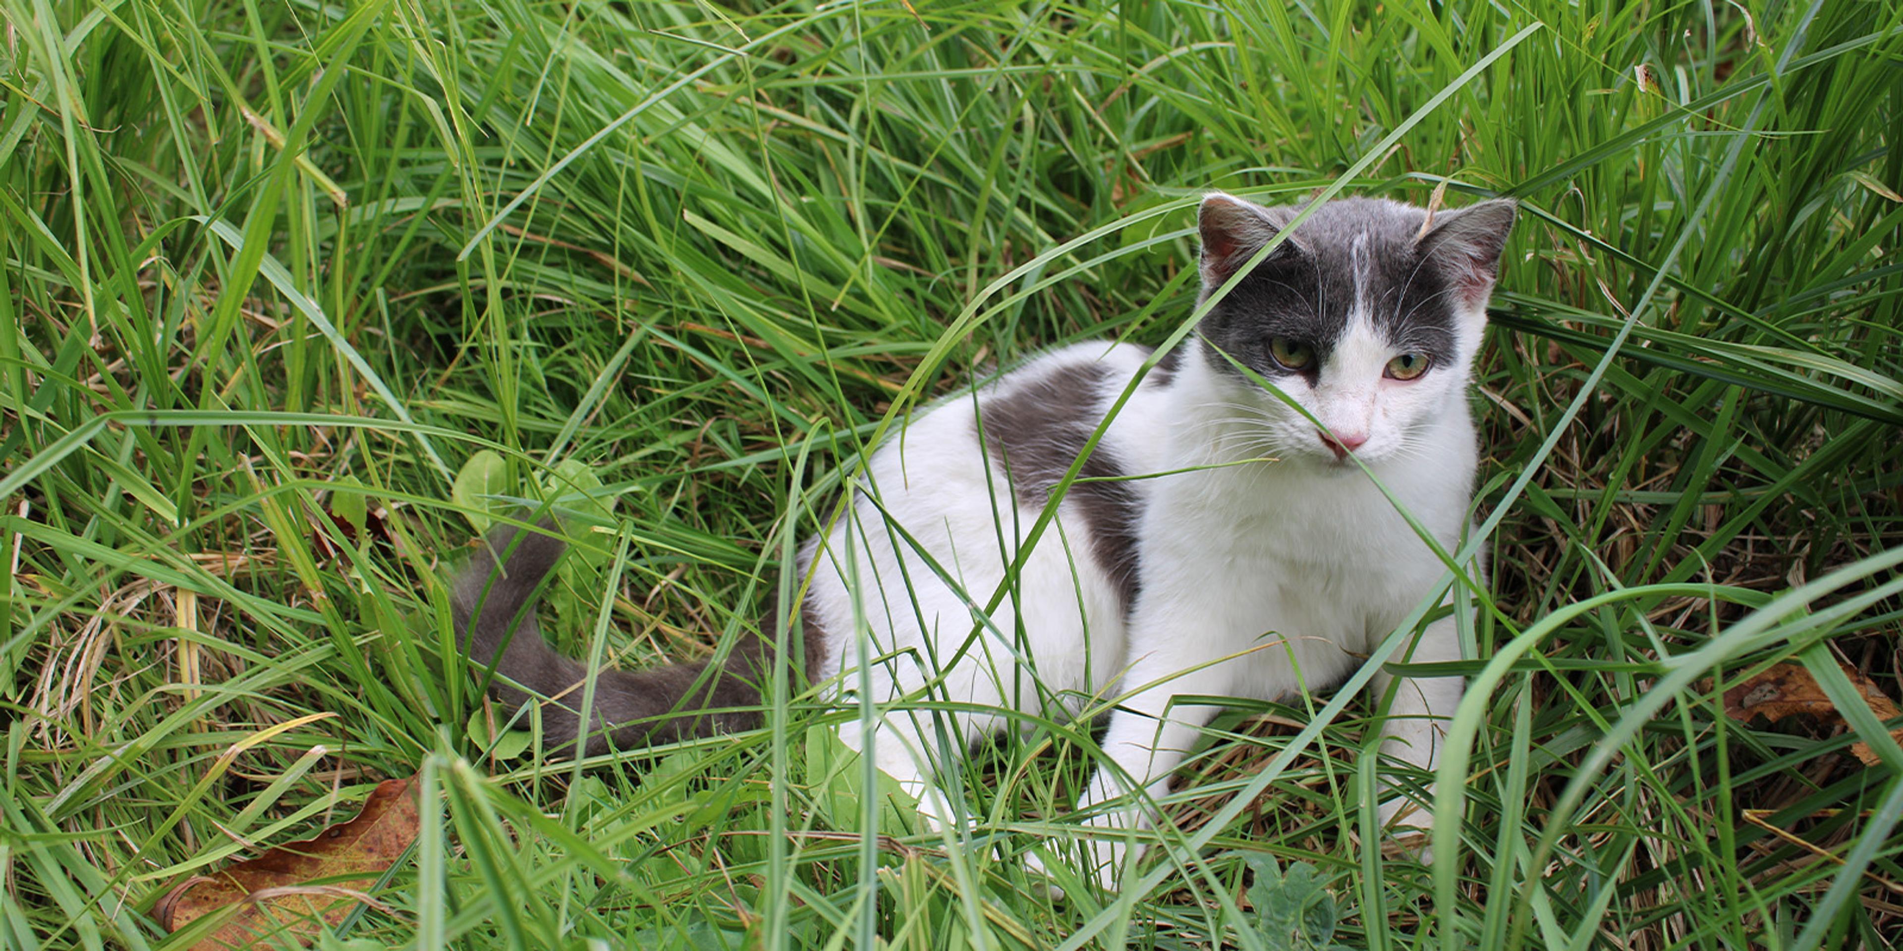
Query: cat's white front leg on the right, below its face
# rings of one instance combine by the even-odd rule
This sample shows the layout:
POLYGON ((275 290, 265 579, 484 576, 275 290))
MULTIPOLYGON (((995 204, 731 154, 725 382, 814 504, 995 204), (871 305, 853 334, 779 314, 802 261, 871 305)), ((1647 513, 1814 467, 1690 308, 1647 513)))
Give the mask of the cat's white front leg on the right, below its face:
MULTIPOLYGON (((1416 639, 1412 652, 1406 643, 1389 658, 1408 664, 1435 664, 1460 660, 1460 630, 1452 616, 1427 626, 1416 639)), ((1441 744, 1446 738, 1448 721, 1460 706, 1465 681, 1462 677, 1395 677, 1385 668, 1374 675, 1372 698, 1387 696, 1393 687, 1395 700, 1387 708, 1382 725, 1382 757, 1397 759, 1429 774, 1423 797, 1416 801, 1408 793, 1383 789, 1378 818, 1382 827, 1395 829, 1397 837, 1412 839, 1420 844, 1420 858, 1433 860, 1433 852, 1420 837, 1433 827, 1433 768, 1441 759, 1441 744), (1399 683, 1397 683, 1399 681, 1399 683)))

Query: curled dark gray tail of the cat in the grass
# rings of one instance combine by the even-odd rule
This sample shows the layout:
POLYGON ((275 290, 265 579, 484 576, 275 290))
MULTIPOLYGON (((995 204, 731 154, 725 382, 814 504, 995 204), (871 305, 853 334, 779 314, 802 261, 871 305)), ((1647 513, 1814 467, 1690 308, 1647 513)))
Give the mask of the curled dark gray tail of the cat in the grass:
MULTIPOLYGON (((544 753, 575 749, 588 687, 588 668, 554 652, 535 622, 535 593, 565 548, 550 519, 525 533, 502 525, 449 586, 457 639, 478 668, 495 668, 493 692, 510 708, 542 702, 544 753)), ((811 668, 813 626, 807 633, 811 668)), ((643 671, 601 670, 582 755, 759 727, 759 685, 771 679, 773 658, 767 637, 744 633, 717 671, 706 670, 704 660, 643 671)), ((527 717, 518 725, 527 725, 527 717)))

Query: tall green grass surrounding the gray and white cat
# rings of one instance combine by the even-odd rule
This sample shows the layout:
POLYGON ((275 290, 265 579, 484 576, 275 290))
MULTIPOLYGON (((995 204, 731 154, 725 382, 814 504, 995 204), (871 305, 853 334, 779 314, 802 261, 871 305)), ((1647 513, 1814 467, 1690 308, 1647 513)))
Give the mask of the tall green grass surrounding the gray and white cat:
POLYGON ((440 808, 341 928, 363 947, 1275 949, 1264 852, 1313 865, 1351 947, 1903 941, 1903 749, 1720 696, 1791 658, 1899 692, 1895 4, 0 21, 8 947, 158 945, 171 883, 419 770, 440 808), (807 730, 853 715, 813 696, 628 770, 466 730, 440 578, 504 506, 451 502, 474 453, 497 495, 613 498, 565 650, 702 656, 799 584, 790 546, 908 407, 1182 333, 1201 190, 1441 184, 1524 215, 1433 867, 1380 854, 1351 692, 1218 721, 1144 888, 1069 902, 1016 854, 1069 835, 1079 727, 976 757, 957 848, 811 782, 807 730), (386 538, 327 515, 354 500, 386 538))

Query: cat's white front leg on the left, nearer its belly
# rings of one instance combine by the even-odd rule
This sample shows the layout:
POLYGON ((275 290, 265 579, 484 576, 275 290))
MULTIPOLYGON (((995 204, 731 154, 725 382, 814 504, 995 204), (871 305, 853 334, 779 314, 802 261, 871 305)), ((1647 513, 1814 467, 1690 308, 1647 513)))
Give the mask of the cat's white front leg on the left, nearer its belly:
MULTIPOLYGON (((1081 852, 1098 884, 1113 892, 1125 869, 1144 854, 1130 833, 1155 822, 1151 803, 1168 793, 1170 772, 1195 746, 1218 708, 1176 704, 1176 696, 1231 692, 1233 666, 1180 647, 1138 658, 1123 683, 1134 692, 1117 704, 1104 734, 1104 755, 1077 810, 1087 814, 1081 852)), ((1041 871, 1037 862, 1031 864, 1041 871)))

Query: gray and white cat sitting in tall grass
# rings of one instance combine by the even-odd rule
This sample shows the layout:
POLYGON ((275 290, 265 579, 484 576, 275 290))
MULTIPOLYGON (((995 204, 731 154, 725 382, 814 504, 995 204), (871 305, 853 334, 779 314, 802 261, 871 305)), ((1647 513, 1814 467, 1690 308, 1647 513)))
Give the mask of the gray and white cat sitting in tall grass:
MULTIPOLYGON (((1199 301, 1298 211, 1205 196, 1199 301)), ((1144 803, 1167 791, 1218 709, 1174 698, 1277 700, 1338 683, 1435 595, 1442 561, 1363 468, 1442 550, 1471 527, 1467 386, 1515 215, 1511 200, 1435 213, 1378 198, 1313 207, 1136 384, 1028 552, 1020 540, 1151 350, 1064 346, 912 418, 856 474, 845 517, 792 567, 813 573, 799 605, 807 677, 839 700, 879 704, 870 738, 860 721, 839 738, 870 747, 927 820, 950 825, 955 808, 932 780, 1014 723, 974 709, 1079 715, 1115 700, 1102 740, 1111 763, 1077 803, 1111 833, 1085 858, 1115 888, 1140 852, 1123 831, 1153 820, 1144 803), (1016 580, 986 616, 1012 561, 1016 580), (906 696, 957 711, 889 709, 906 696)), ((500 529, 453 584, 464 650, 495 664, 500 698, 546 700, 546 751, 584 732, 582 751, 599 755, 761 723, 771 635, 738 641, 712 673, 603 670, 584 730, 573 708, 586 670, 535 626, 535 590, 561 555, 548 529, 500 529)), ((1433 620, 1401 652, 1458 660, 1456 618, 1433 620)), ((1391 683, 1376 675, 1376 696, 1391 683)), ((1462 689, 1460 677, 1399 683, 1382 753, 1431 768, 1435 721, 1462 689)), ((1397 833, 1431 825, 1425 803, 1391 789, 1380 820, 1397 833)))

